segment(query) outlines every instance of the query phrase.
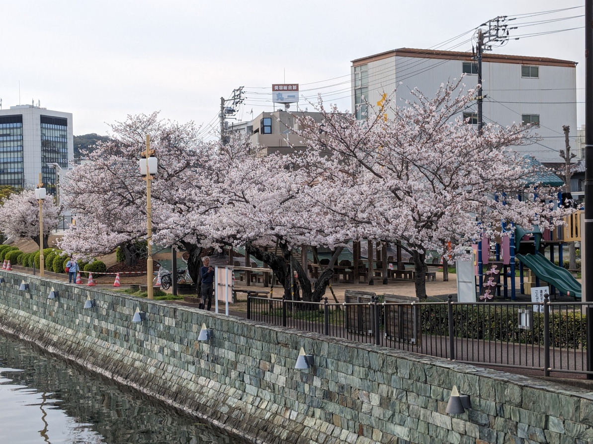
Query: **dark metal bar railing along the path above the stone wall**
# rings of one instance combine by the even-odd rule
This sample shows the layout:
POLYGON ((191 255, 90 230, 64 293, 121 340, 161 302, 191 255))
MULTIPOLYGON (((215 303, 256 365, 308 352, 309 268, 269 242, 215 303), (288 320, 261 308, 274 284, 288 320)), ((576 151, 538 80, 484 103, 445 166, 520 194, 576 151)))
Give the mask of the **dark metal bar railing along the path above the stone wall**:
POLYGON ((247 297, 247 318, 487 366, 587 371, 585 303, 330 304, 247 297))

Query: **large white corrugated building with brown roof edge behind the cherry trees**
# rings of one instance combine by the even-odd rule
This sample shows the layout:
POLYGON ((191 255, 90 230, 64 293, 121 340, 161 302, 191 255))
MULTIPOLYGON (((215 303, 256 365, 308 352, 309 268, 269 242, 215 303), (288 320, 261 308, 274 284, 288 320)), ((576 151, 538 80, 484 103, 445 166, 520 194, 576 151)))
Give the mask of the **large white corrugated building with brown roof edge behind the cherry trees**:
MULTIPOLYGON (((477 65, 471 53, 396 49, 352 61, 352 106, 357 116, 382 94, 397 89, 394 104, 403 105, 418 88, 433 96, 441 83, 459 79, 467 89, 477 85, 477 65), (401 82, 401 85, 400 85, 401 82)), ((576 128, 576 62, 544 57, 484 53, 482 59, 483 121, 508 126, 531 123, 541 137, 536 144, 515 147, 544 163, 559 162, 564 147, 563 125, 576 128)), ((460 116, 461 117, 461 116, 460 116)), ((477 124, 477 105, 463 112, 477 124)), ((576 132, 572 134, 575 146, 576 132)))

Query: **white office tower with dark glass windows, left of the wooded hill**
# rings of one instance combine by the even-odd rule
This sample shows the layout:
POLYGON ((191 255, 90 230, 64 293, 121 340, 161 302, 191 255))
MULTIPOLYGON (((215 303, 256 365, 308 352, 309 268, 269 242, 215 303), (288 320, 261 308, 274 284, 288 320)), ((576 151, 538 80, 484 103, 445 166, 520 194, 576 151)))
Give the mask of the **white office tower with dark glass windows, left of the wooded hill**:
POLYGON ((72 114, 34 105, 0 110, 0 185, 36 188, 39 173, 55 194, 59 171, 74 159, 72 114))

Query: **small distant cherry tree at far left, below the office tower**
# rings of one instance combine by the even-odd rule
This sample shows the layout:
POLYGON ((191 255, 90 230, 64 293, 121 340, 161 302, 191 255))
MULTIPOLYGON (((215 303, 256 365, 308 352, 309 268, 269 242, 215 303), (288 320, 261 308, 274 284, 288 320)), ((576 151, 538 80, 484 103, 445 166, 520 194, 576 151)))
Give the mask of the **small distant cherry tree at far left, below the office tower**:
MULTIPOLYGON (((52 198, 43 200, 43 248, 58 227, 60 210, 52 198)), ((0 207, 0 231, 9 238, 25 237, 39 244, 39 201, 32 189, 11 194, 0 207)))

